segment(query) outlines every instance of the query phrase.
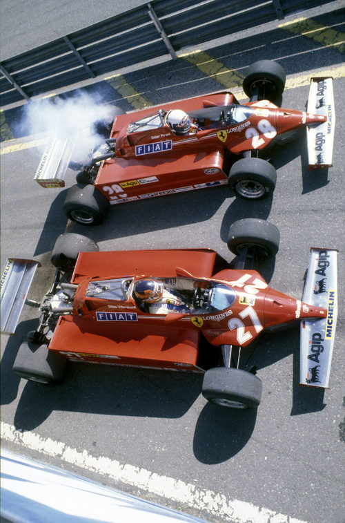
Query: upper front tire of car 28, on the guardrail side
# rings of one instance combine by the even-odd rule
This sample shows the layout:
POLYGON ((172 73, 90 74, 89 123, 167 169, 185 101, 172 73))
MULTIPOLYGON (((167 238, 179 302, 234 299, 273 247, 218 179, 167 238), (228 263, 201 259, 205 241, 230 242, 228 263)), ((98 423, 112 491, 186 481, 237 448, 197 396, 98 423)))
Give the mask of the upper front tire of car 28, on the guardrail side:
POLYGON ((285 82, 286 73, 280 64, 273 60, 258 60, 249 66, 242 85, 249 98, 259 95, 259 99, 272 102, 282 96, 285 82))

